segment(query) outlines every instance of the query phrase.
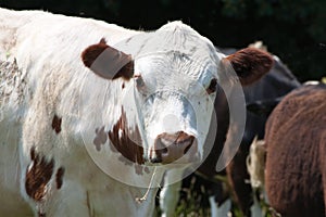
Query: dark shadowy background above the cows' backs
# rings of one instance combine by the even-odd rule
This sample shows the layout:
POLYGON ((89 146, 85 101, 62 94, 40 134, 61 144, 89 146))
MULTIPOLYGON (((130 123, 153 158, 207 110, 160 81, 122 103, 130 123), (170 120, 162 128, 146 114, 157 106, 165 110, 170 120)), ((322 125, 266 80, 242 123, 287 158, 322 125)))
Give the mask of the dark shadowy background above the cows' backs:
POLYGON ((145 30, 181 20, 217 47, 240 49, 262 40, 301 81, 326 75, 325 0, 0 0, 0 7, 145 30))

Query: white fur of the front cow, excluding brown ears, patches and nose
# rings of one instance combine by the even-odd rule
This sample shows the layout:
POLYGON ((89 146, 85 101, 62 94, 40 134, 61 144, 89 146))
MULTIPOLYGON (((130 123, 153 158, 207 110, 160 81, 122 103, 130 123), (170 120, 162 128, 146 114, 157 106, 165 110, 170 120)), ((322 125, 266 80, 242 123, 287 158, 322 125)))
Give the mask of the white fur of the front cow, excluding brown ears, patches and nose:
MULTIPOLYGON (((139 126, 146 157, 153 139, 166 130, 196 136, 202 156, 214 100, 205 88, 218 77, 221 58, 208 39, 180 22, 145 34, 89 18, 0 9, 0 61, 16 61, 21 71, 14 75, 18 84, 8 86, 14 91, 7 103, 0 101, 1 216, 151 216, 156 189, 147 201, 135 200, 145 194, 139 186, 148 186, 151 174, 139 176, 123 165, 109 140, 97 152, 95 130, 112 129, 123 105, 130 129, 139 126), (83 65, 82 52, 101 38, 135 58, 135 73, 141 74, 154 99, 137 91, 134 79, 104 80, 83 65), (63 118, 59 135, 51 128, 54 114, 63 118), (163 127, 168 115, 177 127, 163 127), (55 161, 54 171, 65 168, 61 190, 52 176, 41 202, 25 192, 33 146, 55 161)), ((7 81, 1 90, 9 91, 2 86, 7 81)), ((155 175, 156 183, 162 176, 163 170, 155 175)))

